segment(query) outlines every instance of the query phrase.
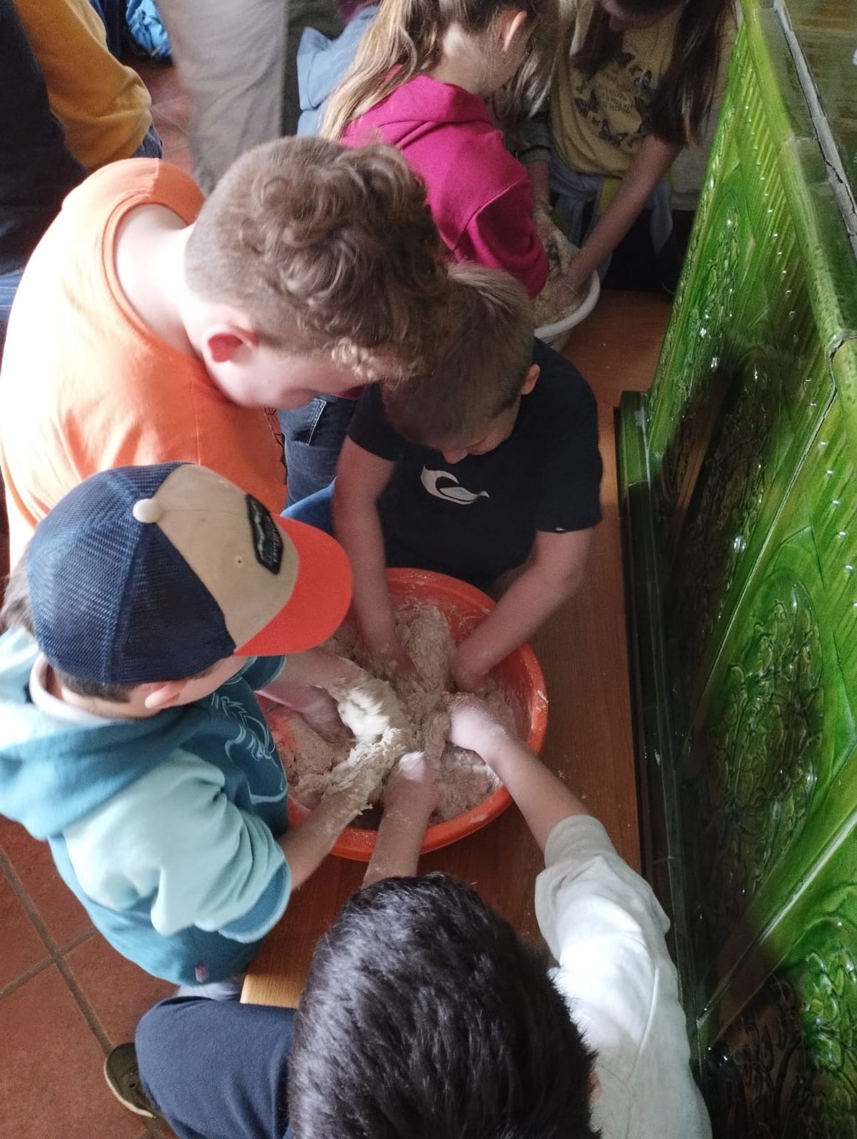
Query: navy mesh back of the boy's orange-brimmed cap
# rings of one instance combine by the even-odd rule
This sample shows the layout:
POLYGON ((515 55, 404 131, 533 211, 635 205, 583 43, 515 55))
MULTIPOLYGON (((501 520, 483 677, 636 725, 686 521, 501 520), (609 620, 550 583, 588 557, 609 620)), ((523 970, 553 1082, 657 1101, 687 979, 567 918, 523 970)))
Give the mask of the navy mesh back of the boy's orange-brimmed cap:
POLYGON ((133 685, 193 675, 234 650, 203 583, 156 525, 131 514, 177 466, 93 475, 39 524, 27 579, 36 639, 56 667, 133 685))

